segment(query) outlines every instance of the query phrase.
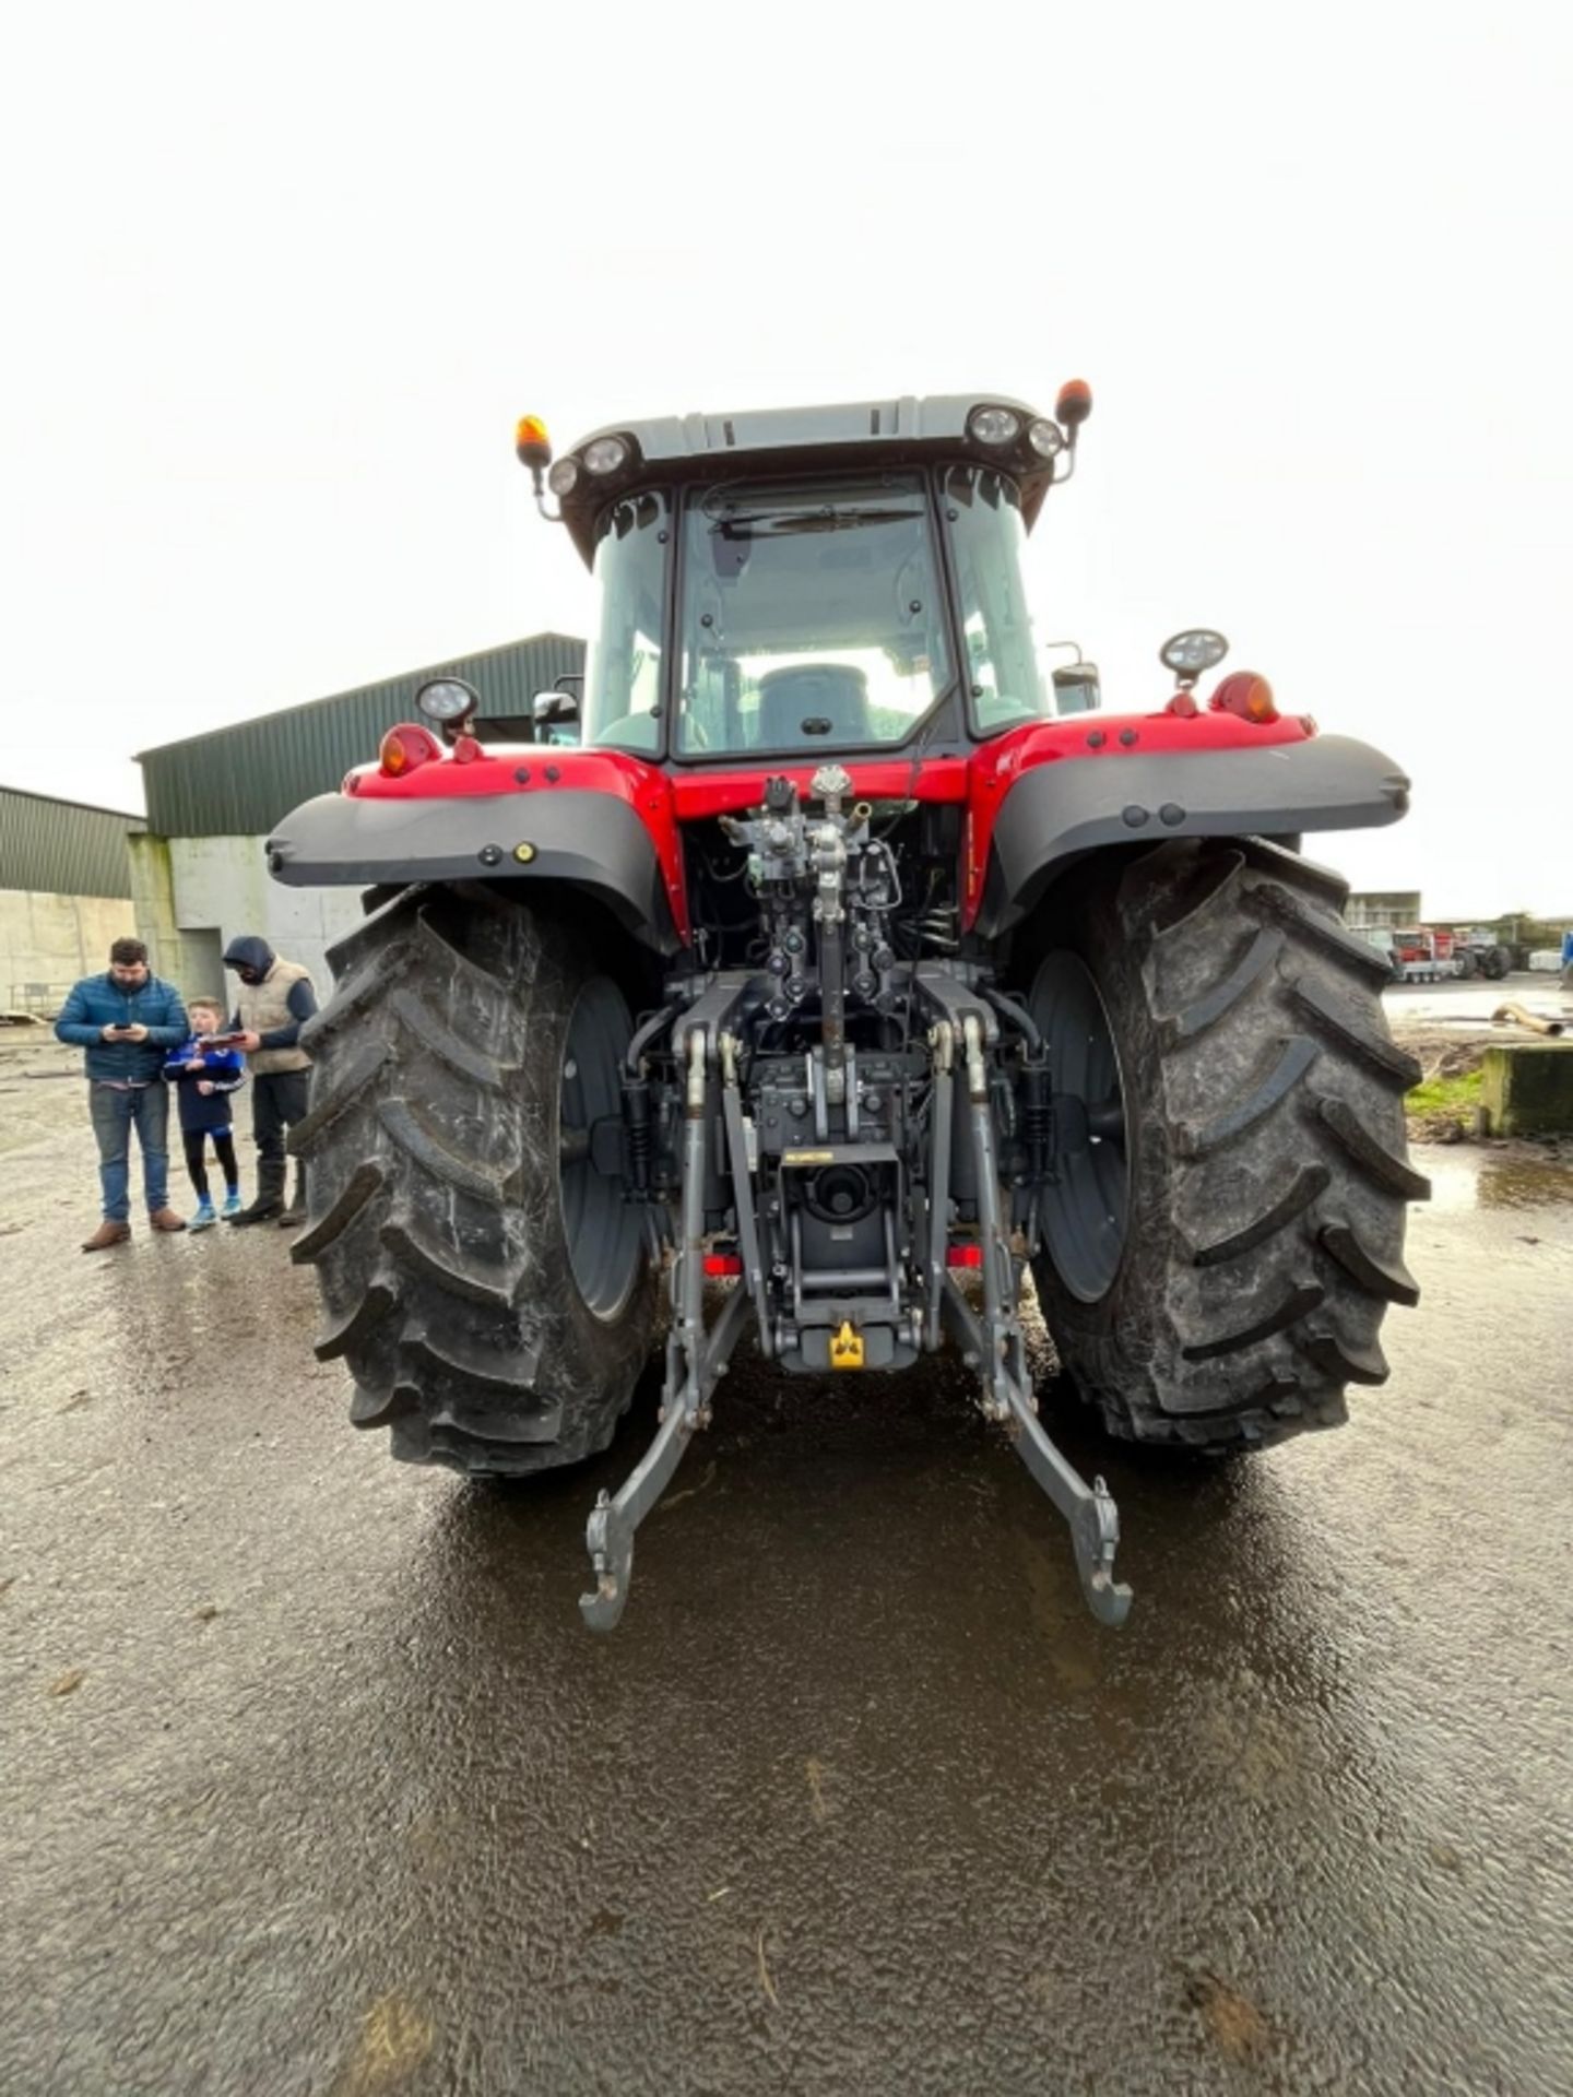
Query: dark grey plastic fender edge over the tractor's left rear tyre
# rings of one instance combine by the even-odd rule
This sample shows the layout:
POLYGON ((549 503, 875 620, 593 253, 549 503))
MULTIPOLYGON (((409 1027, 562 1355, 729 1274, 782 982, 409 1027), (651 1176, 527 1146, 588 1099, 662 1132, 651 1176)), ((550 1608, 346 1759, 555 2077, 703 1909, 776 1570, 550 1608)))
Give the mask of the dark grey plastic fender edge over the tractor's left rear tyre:
POLYGON ((550 881, 579 889, 659 954, 680 946, 667 883, 638 812, 606 793, 317 795, 266 841, 289 887, 411 881, 550 881))

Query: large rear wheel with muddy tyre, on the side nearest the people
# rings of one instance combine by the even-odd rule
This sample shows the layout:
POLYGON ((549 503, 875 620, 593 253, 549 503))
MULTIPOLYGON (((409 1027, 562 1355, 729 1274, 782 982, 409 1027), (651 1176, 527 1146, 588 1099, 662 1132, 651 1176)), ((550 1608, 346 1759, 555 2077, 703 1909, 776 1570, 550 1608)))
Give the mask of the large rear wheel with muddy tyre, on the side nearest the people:
POLYGON ((583 948, 484 887, 413 887, 327 956, 292 1256, 317 1267, 317 1355, 348 1363, 352 1422, 405 1462, 575 1464, 650 1353, 640 1212, 598 1170, 631 1019, 583 948))

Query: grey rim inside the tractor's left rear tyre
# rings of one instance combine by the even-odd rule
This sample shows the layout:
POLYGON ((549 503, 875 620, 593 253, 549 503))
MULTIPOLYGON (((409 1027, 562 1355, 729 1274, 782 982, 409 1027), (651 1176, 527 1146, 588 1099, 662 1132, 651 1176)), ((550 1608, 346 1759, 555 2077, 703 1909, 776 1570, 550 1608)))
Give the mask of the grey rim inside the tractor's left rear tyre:
POLYGON ((623 1176, 598 1172, 589 1145, 596 1122, 623 1109, 617 1065, 631 1032, 621 990, 594 975, 575 1000, 562 1053, 558 1189, 573 1279, 602 1323, 623 1309, 644 1264, 640 1214, 623 1199, 623 1176))

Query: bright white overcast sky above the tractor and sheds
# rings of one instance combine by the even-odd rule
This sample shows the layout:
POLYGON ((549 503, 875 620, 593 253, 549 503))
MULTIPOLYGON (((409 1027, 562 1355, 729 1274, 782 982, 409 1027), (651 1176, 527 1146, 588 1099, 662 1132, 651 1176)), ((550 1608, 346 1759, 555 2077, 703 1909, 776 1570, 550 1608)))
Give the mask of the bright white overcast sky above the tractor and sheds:
POLYGON ((0 780, 132 807, 136 749, 583 631, 526 409, 1078 373, 1032 560, 1105 705, 1221 625, 1414 772, 1326 847, 1359 885, 1573 908, 1571 48, 1518 6, 13 13, 0 780))

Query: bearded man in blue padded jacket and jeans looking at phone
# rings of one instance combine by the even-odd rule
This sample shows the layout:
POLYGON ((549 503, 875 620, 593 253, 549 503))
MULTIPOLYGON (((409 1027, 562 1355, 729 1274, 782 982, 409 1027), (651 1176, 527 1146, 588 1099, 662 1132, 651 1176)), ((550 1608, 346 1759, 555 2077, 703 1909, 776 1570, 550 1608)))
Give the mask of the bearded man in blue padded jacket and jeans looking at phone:
POLYGON ((187 1009, 174 983, 147 967, 141 939, 115 939, 109 971, 84 975, 65 1000, 55 1032, 86 1048, 88 1105, 99 1139, 103 1223, 82 1246, 105 1252, 130 1237, 130 1132, 143 1145, 143 1193, 155 1231, 185 1231, 170 1208, 170 1095, 164 1057, 189 1032, 187 1009))

